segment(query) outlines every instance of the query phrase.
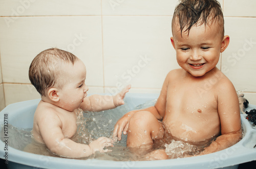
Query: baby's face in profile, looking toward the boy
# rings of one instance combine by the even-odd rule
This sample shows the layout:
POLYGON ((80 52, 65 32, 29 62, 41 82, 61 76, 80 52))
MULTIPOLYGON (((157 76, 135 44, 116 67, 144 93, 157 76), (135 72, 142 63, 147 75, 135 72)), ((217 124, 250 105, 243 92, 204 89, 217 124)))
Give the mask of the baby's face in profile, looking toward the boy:
POLYGON ((74 111, 79 108, 83 99, 87 96, 88 87, 84 83, 86 80, 86 66, 81 60, 78 60, 72 65, 65 63, 65 84, 60 89, 59 97, 61 108, 68 111, 74 111))

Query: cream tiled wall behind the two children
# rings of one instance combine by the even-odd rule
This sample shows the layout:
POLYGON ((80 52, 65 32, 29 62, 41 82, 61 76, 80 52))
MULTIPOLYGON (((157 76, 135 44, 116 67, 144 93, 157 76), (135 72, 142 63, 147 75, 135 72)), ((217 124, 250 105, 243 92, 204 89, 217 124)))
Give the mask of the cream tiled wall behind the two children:
MULTIPOLYGON (((39 98, 28 69, 42 50, 59 47, 87 66, 89 92, 158 93, 178 68, 170 43, 178 0, 0 1, 0 109, 39 98), (3 79, 3 80, 2 80, 3 79)), ((256 1, 220 0, 228 49, 218 67, 256 105, 256 1)))

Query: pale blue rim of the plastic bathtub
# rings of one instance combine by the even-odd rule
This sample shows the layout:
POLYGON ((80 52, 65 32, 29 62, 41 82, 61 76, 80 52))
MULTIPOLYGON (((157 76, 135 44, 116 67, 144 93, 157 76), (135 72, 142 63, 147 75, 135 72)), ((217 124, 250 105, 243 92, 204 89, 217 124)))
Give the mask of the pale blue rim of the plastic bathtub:
MULTIPOLYGON (((134 98, 143 98, 143 96, 147 96, 148 100, 152 100, 152 98, 157 98, 158 94, 141 94, 141 93, 127 93, 128 99, 134 99, 134 98)), ((40 99, 36 100, 30 100, 30 101, 24 101, 24 102, 18 102, 14 104, 8 105, 5 109, 3 109, 0 112, 0 125, 3 125, 3 117, 5 112, 12 112, 15 111, 17 108, 14 106, 19 106, 22 109, 25 108, 36 108, 38 102, 40 99)), ((143 101, 144 103, 145 101, 143 101)), ((247 110, 256 108, 256 106, 250 105, 247 110)), ((16 112, 18 113, 18 112, 16 112)), ((13 114, 14 115, 14 114, 13 114)), ((244 162, 249 162, 252 160, 255 160, 253 156, 256 156, 256 149, 250 149, 243 146, 243 143, 248 139, 251 132, 256 132, 255 129, 252 129, 250 126, 250 123, 247 119, 245 119, 246 115, 241 114, 241 122, 243 126, 246 128, 246 133, 244 137, 237 143, 231 146, 230 148, 227 148, 225 150, 203 155, 203 156, 197 156, 197 157, 189 157, 189 158, 178 158, 178 159, 168 159, 164 160, 157 160, 157 161, 109 161, 109 160, 98 160, 98 159, 88 159, 88 160, 77 160, 77 159, 68 159, 65 158, 59 158, 59 157, 49 157, 49 156, 43 156, 43 155, 37 155, 32 153, 23 152, 20 150, 16 150, 12 147, 9 147, 9 154, 8 161, 24 164, 24 165, 30 165, 30 166, 36 166, 36 167, 47 167, 47 168, 54 168, 54 167, 60 167, 60 164, 62 168, 69 168, 70 165, 81 168, 87 166, 87 168, 93 168, 93 167, 104 167, 108 166, 110 168, 119 168, 119 167, 196 167, 202 168, 204 167, 226 167, 230 165, 236 165, 244 162), (232 150, 236 150, 232 153, 232 156, 229 156, 229 153, 232 152, 232 150), (20 155, 21 154, 21 155, 20 155), (220 159, 221 157, 229 156, 228 159, 220 159), (196 158, 196 160, 195 160, 196 158), (218 160, 219 158, 219 160, 218 160), (38 160, 42 160, 42 166, 38 166, 38 160), (45 160, 45 161, 44 161, 45 160), (75 161, 74 161, 75 160, 75 161), (181 161, 182 160, 182 161, 181 161), (47 163, 48 161, 48 163, 47 163), (65 162, 64 162, 65 161, 65 162), (203 162, 202 162, 203 161, 203 162)), ((10 117, 9 117, 10 118, 10 117)), ((0 127, 2 130, 2 126, 0 127)), ((0 141, 0 154, 3 158, 3 155, 5 153, 4 149, 4 142, 0 141)))

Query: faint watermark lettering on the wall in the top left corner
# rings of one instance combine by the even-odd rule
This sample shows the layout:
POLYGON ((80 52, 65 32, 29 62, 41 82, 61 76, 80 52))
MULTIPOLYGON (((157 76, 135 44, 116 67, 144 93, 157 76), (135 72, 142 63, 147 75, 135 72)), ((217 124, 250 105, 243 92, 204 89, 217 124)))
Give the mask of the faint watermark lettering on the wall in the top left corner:
POLYGON ((19 6, 16 8, 11 9, 11 15, 10 17, 4 17, 5 23, 7 27, 9 28, 15 20, 18 19, 17 16, 22 16, 26 10, 28 10, 32 3, 34 3, 36 0, 20 0, 19 6))

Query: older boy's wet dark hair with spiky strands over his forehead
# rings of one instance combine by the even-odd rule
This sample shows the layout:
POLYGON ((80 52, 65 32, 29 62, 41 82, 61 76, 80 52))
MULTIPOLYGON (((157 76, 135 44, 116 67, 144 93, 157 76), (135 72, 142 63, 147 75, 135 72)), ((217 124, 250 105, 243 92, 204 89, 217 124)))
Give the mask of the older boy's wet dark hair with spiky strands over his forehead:
POLYGON ((224 36, 224 18, 221 10, 221 5, 217 0, 181 0, 180 4, 175 8, 174 16, 172 20, 172 27, 175 24, 175 20, 179 19, 180 31, 185 27, 184 31, 189 31, 195 24, 208 25, 214 21, 219 21, 220 33, 224 36))

